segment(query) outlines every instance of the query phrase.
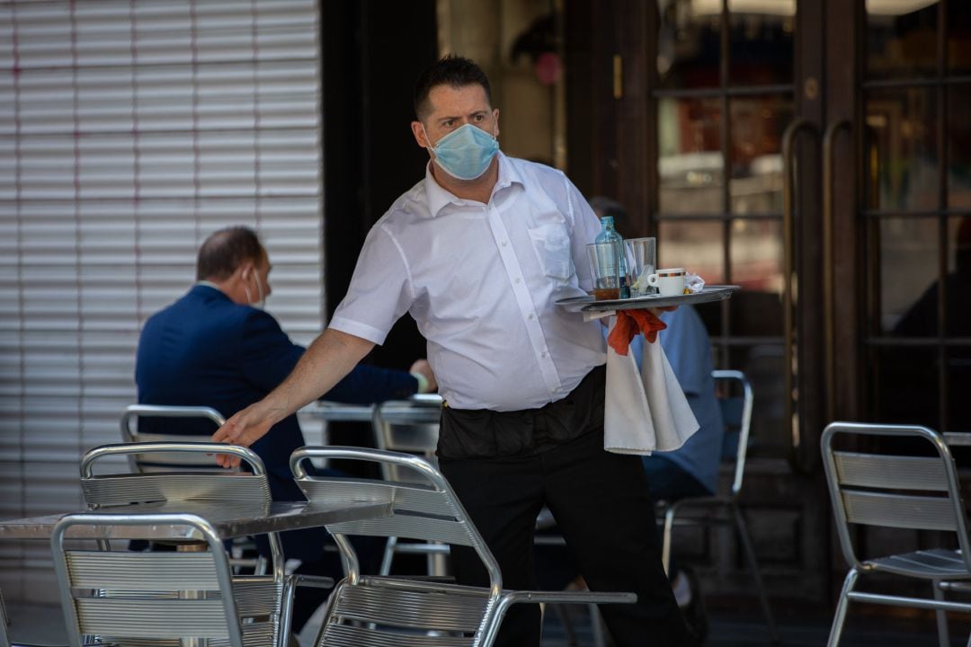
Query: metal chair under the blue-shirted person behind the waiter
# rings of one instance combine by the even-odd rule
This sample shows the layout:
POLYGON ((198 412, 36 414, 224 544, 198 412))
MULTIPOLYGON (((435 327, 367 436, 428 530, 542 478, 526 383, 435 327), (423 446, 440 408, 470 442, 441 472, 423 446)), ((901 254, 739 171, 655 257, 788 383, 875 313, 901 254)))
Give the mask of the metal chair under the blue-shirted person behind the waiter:
POLYGON ((712 497, 687 497, 670 503, 661 501, 658 510, 658 513, 663 514, 664 517, 661 561, 664 564, 664 570, 668 570, 671 565, 671 538, 676 522, 679 525, 734 525, 749 569, 752 571, 755 590, 769 635, 773 643, 778 643, 779 631, 776 629, 775 618, 765 593, 765 584, 762 582, 758 560, 755 558, 752 538, 749 536, 745 517, 738 504, 745 476, 749 429, 752 424, 754 400, 752 384, 741 371, 713 371, 712 377, 715 378, 717 389, 721 385, 719 404, 725 425, 725 434, 721 443, 721 461, 732 469, 731 487, 727 492, 720 492, 712 497), (728 516, 724 514, 726 511, 728 516))

